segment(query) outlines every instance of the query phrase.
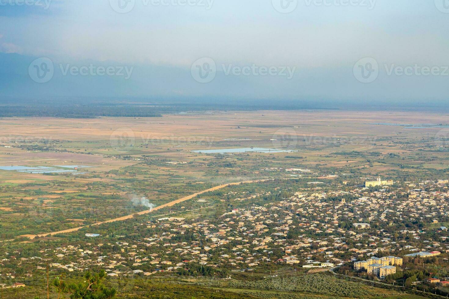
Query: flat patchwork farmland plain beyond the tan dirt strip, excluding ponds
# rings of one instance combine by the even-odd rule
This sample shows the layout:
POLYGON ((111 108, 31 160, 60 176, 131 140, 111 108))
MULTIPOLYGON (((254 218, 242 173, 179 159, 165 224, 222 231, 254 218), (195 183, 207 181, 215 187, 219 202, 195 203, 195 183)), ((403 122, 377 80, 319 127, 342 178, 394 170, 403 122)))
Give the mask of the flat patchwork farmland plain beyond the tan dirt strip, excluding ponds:
POLYGON ((145 210, 132 203, 132 196, 145 196, 157 206, 222 183, 290 177, 280 169, 336 171, 342 174, 339 179, 350 179, 355 169, 370 175, 434 175, 449 168, 449 128, 409 124, 445 124, 446 117, 316 110, 156 119, 2 118, 0 166, 92 168, 78 169, 78 175, 0 170, 0 238, 65 230, 145 210), (243 147, 295 152, 192 152, 243 147))

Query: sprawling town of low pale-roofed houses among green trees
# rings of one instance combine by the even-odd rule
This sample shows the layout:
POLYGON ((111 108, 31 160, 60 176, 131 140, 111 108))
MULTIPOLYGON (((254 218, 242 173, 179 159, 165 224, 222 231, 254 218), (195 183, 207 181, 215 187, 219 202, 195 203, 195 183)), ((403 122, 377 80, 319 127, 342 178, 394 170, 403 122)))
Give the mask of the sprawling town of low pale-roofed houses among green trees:
POLYGON ((11 287, 47 266, 66 273, 101 268, 112 277, 145 277, 185 273, 193 267, 243 272, 267 265, 349 265, 385 278, 396 273, 403 258, 427 255, 448 261, 449 234, 439 225, 449 221, 446 180, 401 182, 380 189, 316 185, 288 198, 251 204, 267 194, 233 192, 233 208, 216 218, 163 217, 136 223, 132 236, 103 239, 89 234, 88 243, 45 248, 34 256, 1 252, 0 279, 4 287, 11 287), (22 270, 14 272, 7 264, 22 270))

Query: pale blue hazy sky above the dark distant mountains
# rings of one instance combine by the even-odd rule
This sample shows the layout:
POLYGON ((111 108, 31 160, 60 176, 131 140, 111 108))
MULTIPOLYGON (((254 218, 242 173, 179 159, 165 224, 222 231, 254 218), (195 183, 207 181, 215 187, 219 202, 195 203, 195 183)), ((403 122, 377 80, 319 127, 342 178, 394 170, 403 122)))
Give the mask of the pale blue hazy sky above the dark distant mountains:
POLYGON ((174 78, 179 88, 165 78, 154 94, 444 100, 448 93, 449 0, 25 1, 0 0, 0 52, 62 64, 114 61, 134 66, 138 82, 148 66, 189 74, 174 78), (190 76, 202 57, 216 63, 212 82, 190 76), (366 60, 356 65, 365 57, 379 65, 373 82, 354 74, 370 74, 366 60), (253 64, 276 70, 241 74, 253 64), (405 75, 398 66, 415 67, 405 75), (438 69, 423 75, 423 67, 438 69))

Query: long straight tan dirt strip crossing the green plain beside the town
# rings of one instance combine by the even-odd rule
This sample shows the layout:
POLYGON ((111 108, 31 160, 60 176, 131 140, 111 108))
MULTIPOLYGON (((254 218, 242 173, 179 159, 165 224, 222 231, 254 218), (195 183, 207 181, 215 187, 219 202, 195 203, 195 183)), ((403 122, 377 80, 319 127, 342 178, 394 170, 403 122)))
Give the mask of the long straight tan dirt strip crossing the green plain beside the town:
MULTIPOLYGON (((215 187, 209 188, 209 189, 207 189, 207 190, 199 191, 199 192, 194 193, 194 194, 192 194, 192 195, 185 196, 185 197, 183 197, 183 198, 173 200, 173 201, 171 201, 171 202, 169 202, 169 203, 167 203, 167 204, 160 205, 160 206, 158 206, 158 207, 156 207, 156 208, 154 208, 154 209, 152 209, 152 210, 146 210, 146 211, 137 212, 137 213, 134 213, 134 214, 139 214, 139 215, 148 214, 148 213, 150 213, 150 212, 157 211, 157 210, 160 210, 160 209, 162 209, 162 208, 171 207, 171 206, 173 206, 173 205, 175 205, 175 204, 182 203, 183 201, 192 199, 192 198, 194 198, 194 197, 197 196, 197 195, 200 195, 200 194, 203 194, 203 193, 206 193, 206 192, 209 192, 209 191, 215 191, 215 190, 218 190, 218 189, 222 189, 222 188, 225 188, 225 187, 227 187, 227 186, 239 185, 239 184, 245 184, 245 183, 254 183, 254 182, 264 182, 264 181, 268 181, 268 180, 265 179, 265 180, 255 180, 255 181, 247 181, 247 182, 235 182, 235 183, 229 183, 229 184, 224 184, 224 185, 215 186, 215 187)), ((91 225, 100 225, 100 224, 103 224, 103 223, 110 223, 110 222, 115 222, 115 221, 123 221, 123 220, 127 220, 127 219, 132 218, 134 214, 127 215, 127 216, 123 216, 123 217, 119 217, 119 218, 110 219, 110 220, 107 220, 107 221, 102 221, 102 222, 93 223, 93 224, 91 224, 91 225)), ((28 237, 28 238, 30 238, 30 239, 33 239, 33 238, 35 238, 36 236, 38 236, 38 237, 53 236, 53 235, 55 235, 55 234, 71 233, 71 232, 80 230, 80 229, 82 229, 82 228, 84 228, 84 227, 88 227, 88 226, 91 226, 91 225, 84 225, 84 226, 80 226, 80 227, 75 227, 75 228, 73 228, 73 229, 55 231, 55 232, 53 232, 53 233, 37 234, 37 235, 27 234, 27 235, 23 235, 23 236, 26 236, 26 237, 28 237)))

